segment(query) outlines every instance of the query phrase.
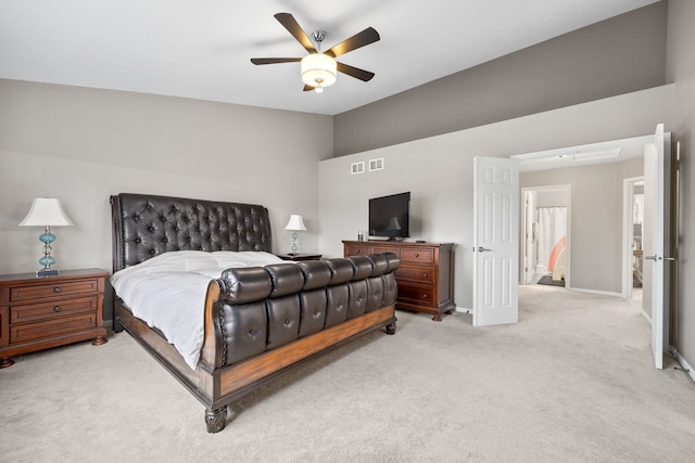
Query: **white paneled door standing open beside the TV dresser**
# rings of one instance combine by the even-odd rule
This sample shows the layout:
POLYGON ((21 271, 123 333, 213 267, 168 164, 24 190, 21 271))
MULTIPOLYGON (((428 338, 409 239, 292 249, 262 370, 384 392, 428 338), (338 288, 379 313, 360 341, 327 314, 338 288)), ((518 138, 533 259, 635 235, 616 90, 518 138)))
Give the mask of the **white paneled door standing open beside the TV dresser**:
POLYGON ((473 326, 519 320, 519 169, 473 159, 473 326))

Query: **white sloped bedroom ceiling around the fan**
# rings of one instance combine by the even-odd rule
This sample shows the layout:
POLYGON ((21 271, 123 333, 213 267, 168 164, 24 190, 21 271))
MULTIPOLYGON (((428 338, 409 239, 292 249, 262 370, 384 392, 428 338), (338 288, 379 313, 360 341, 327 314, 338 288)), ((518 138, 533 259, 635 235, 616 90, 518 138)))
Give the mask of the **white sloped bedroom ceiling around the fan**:
POLYGON ((0 78, 334 115, 655 1, 5 0, 0 78), (306 53, 278 12, 326 30, 324 50, 376 28, 380 41, 338 60, 376 77, 340 74, 317 94, 299 63, 251 64, 306 53))

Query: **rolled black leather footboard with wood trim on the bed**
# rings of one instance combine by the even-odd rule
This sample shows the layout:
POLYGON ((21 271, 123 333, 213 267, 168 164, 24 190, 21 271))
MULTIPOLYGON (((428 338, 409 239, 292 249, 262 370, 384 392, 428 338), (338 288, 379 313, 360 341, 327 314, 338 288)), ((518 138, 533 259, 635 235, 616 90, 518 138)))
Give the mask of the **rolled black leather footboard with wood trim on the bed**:
POLYGON ((227 403, 276 374, 369 331, 395 333, 399 263, 388 254, 225 270, 206 305, 207 430, 222 430, 227 403))

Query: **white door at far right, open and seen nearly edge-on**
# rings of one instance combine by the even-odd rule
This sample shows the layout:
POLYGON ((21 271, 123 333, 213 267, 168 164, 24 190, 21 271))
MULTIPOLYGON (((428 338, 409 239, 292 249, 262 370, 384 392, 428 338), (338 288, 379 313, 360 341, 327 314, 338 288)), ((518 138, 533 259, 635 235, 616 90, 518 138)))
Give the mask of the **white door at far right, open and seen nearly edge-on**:
POLYGON ((659 124, 654 144, 644 153, 644 269, 643 310, 652 318, 654 364, 664 368, 664 350, 669 332, 670 180, 671 137, 659 124), (648 294, 650 293, 650 294, 648 294))

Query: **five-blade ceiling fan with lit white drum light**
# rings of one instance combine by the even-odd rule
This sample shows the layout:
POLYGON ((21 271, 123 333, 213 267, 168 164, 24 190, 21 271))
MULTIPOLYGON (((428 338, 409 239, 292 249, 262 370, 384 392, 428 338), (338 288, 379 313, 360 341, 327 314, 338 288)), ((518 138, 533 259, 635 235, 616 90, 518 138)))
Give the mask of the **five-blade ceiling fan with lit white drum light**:
POLYGON ((374 77, 374 73, 349 66, 348 64, 338 63, 336 61, 336 57, 341 54, 345 54, 350 51, 378 41, 380 39, 379 33, 377 33, 374 27, 367 27, 362 33, 355 34, 331 49, 321 52, 320 46, 321 41, 326 38, 326 31, 316 30, 313 33, 312 37, 317 44, 317 47, 314 47, 312 40, 290 13, 277 13, 274 17, 290 31, 290 34, 309 54, 304 57, 252 57, 251 62, 253 64, 260 65, 300 62, 302 65, 304 91, 315 90, 317 93, 323 92, 324 88, 332 86, 336 82, 338 72, 365 82, 371 80, 374 77))

